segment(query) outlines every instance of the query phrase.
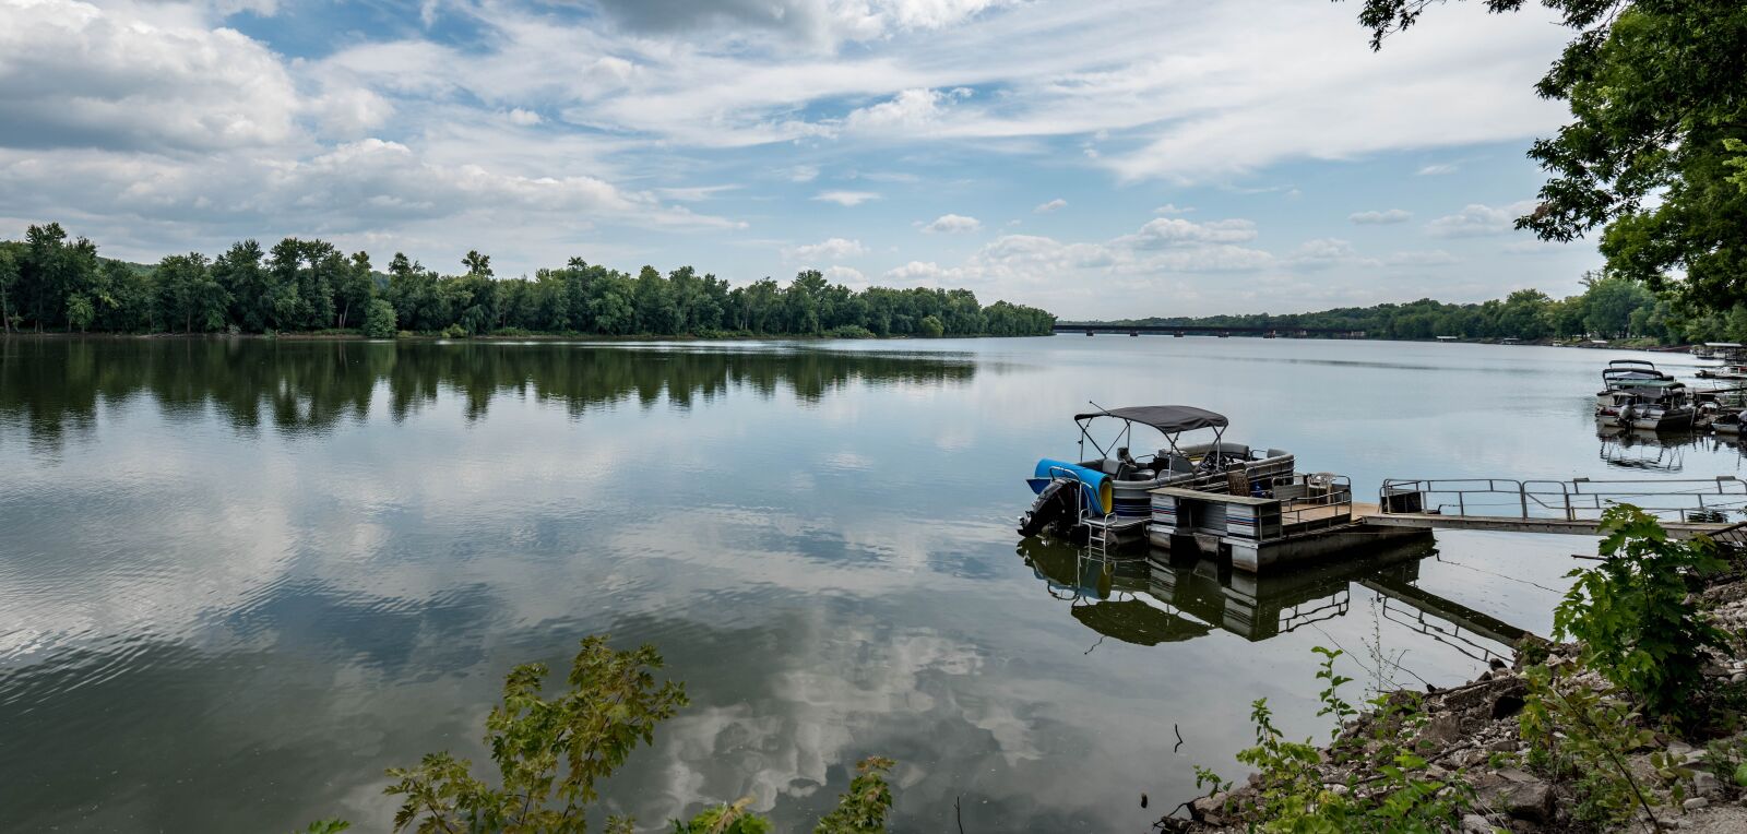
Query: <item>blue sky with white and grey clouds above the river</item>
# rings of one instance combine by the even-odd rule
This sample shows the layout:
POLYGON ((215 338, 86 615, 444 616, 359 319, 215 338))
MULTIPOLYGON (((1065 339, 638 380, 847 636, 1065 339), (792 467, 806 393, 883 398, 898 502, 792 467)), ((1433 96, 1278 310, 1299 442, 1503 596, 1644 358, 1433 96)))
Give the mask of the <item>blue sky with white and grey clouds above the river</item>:
POLYGON ((0 237, 819 269, 1064 318, 1579 291, 1569 31, 1326 0, 0 0, 0 237))

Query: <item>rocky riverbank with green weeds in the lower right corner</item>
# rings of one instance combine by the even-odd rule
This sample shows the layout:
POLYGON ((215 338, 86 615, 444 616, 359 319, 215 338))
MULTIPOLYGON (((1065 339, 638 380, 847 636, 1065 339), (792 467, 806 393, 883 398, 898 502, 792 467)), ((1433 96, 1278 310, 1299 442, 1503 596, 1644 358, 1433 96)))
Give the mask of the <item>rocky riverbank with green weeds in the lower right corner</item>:
MULTIPOLYGON (((1380 698, 1314 747, 1309 778, 1295 787, 1361 806, 1448 803, 1448 822, 1459 818, 1464 834, 1747 831, 1747 560, 1735 553, 1695 600, 1728 646, 1710 653, 1703 684, 1682 693, 1703 715, 1684 731, 1628 708, 1583 665, 1579 646, 1529 637, 1511 667, 1494 661, 1462 686, 1380 698), (1599 766, 1574 766, 1578 749, 1576 759, 1599 766)), ((1267 829, 1281 822, 1286 769, 1216 783, 1225 790, 1177 806, 1190 818, 1167 817, 1160 829, 1267 829)))

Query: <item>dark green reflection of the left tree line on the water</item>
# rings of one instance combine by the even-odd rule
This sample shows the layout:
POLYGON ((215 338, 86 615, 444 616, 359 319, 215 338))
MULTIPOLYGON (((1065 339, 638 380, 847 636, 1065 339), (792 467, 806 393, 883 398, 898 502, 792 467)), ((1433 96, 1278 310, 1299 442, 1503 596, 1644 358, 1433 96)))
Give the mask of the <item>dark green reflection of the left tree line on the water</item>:
POLYGON ((772 349, 652 349, 583 344, 314 342, 257 338, 0 340, 0 436, 59 447, 101 407, 150 398, 169 419, 218 415, 238 431, 323 433, 374 405, 402 420, 451 391, 466 419, 514 394, 571 415, 634 398, 678 408, 728 391, 818 401, 849 386, 966 384, 964 354, 772 349), (377 400, 381 396, 383 400, 377 400))

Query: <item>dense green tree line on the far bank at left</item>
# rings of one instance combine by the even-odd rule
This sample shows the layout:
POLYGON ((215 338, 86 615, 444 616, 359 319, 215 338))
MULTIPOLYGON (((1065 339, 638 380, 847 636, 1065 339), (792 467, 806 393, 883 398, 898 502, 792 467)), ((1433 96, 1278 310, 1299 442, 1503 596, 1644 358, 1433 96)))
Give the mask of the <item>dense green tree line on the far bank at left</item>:
POLYGON ((363 251, 287 237, 264 250, 239 241, 224 255, 169 255, 157 265, 100 258, 59 223, 0 241, 0 328, 108 333, 398 332, 589 335, 1046 335, 1055 316, 977 302, 970 290, 863 291, 805 270, 728 286, 713 274, 653 267, 625 274, 582 258, 533 277, 498 279, 470 251, 445 276, 402 253, 377 272, 363 251))

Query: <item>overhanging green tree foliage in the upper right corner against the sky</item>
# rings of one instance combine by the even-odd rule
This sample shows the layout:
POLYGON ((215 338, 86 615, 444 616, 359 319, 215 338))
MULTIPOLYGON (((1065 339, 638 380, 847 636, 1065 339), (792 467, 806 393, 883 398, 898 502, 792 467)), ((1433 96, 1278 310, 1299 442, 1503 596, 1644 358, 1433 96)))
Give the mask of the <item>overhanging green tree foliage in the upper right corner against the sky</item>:
MULTIPOLYGON (((1525 0, 1483 0, 1494 12, 1525 0)), ((1371 47, 1431 0, 1364 0, 1371 47)), ((1576 31, 1536 85, 1572 120, 1529 155, 1548 171, 1516 220, 1541 239, 1602 229, 1609 274, 1677 286, 1695 307, 1747 298, 1747 5, 1740 0, 1541 0, 1576 31), (1675 281, 1674 276, 1684 276, 1675 281)))

